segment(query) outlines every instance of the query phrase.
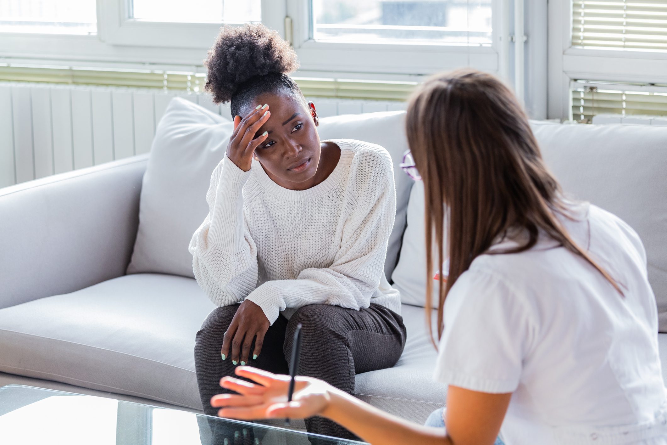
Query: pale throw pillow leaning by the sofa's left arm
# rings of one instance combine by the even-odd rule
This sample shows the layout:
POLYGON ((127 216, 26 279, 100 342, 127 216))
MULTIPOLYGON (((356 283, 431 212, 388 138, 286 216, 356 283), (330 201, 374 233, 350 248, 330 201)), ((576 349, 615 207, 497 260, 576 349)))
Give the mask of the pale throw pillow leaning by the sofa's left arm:
POLYGON ((227 149, 233 123, 191 101, 171 99, 151 145, 139 201, 139 230, 128 274, 194 278, 187 250, 208 213, 211 172, 227 149))

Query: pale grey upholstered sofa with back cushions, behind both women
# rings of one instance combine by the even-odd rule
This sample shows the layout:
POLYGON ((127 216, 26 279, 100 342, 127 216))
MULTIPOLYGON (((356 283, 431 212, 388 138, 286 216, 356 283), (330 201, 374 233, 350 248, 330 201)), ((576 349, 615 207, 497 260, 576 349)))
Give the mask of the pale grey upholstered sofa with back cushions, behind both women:
MULTIPOLYGON (((209 175, 231 124, 186 102, 169 105, 147 155, 0 189, 0 386, 201 410, 193 346, 213 304, 188 274, 187 241, 206 214, 209 175)), ((422 191, 398 169, 403 119, 330 117, 320 135, 380 143, 394 158, 398 210, 386 272, 402 292, 408 342, 394 368, 359 374, 356 393, 424 422, 444 405, 446 388, 431 378, 422 191)), ((570 195, 616 213, 642 237, 667 332, 667 127, 534 122, 534 130, 570 195)), ((667 362, 667 334, 659 340, 667 362)))

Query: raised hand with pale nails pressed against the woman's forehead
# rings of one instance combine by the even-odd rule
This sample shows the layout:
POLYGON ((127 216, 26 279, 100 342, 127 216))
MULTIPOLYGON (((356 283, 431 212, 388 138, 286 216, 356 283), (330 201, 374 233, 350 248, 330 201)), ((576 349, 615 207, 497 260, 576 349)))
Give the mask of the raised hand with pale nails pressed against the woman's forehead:
POLYGON ((234 131, 229 137, 227 145, 227 157, 243 171, 248 171, 252 165, 253 153, 255 149, 268 136, 264 131, 261 135, 255 137, 257 130, 269 119, 269 105, 257 105, 243 119, 241 116, 234 116, 234 131))

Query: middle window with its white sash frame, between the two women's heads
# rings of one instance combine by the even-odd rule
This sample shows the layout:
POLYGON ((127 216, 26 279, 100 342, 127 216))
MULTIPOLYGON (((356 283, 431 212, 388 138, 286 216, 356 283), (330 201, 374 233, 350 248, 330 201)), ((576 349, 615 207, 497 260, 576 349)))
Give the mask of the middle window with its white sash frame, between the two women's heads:
POLYGON ((499 72, 510 0, 287 0, 303 75, 420 81, 471 66, 499 72))

